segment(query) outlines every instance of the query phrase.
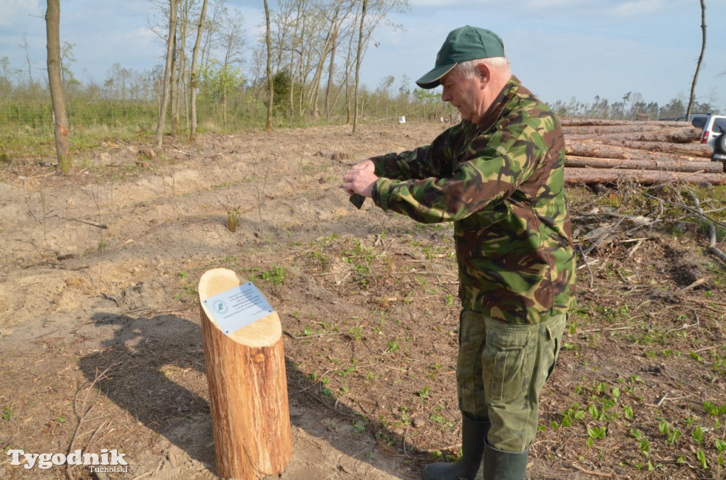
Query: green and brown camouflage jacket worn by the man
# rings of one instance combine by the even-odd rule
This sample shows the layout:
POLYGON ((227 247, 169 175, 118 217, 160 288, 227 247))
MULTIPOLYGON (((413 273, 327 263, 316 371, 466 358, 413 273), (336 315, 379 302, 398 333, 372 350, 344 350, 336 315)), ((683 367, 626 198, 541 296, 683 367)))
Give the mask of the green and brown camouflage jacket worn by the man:
POLYGON ((370 160, 380 177, 372 199, 383 210, 454 222, 463 309, 537 323, 571 307, 562 128, 516 77, 477 125, 464 121, 431 145, 370 160))

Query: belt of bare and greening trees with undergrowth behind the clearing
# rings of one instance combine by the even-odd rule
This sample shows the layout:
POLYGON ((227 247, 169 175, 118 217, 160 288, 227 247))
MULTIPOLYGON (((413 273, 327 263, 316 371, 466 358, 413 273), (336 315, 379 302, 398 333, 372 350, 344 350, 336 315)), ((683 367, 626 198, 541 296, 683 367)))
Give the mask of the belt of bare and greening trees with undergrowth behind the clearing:
MULTIPOLYGON (((179 19, 173 39, 166 133, 184 136, 191 131, 192 87, 197 88, 200 133, 264 127, 269 102, 264 38, 256 45, 246 45, 240 12, 229 9, 224 0, 210 1, 202 25, 198 72, 192 75, 203 1, 173 1, 179 19)), ((150 25, 160 38, 161 56, 168 40, 170 1, 152 1, 152 6, 155 15, 150 25)), ((438 90, 415 88, 407 75, 388 75, 375 88, 359 86, 356 81, 356 52, 360 48, 364 56, 374 30, 390 22, 391 12, 410 9, 408 0, 370 0, 364 11, 362 2, 356 0, 284 0, 275 7, 270 12, 274 127, 352 123, 356 91, 359 119, 368 123, 401 116, 409 121, 449 120, 456 113, 440 101, 438 90)), ((73 70, 73 48, 62 42, 62 80, 73 148, 99 138, 123 140, 153 133, 164 65, 138 71, 115 63, 103 80, 83 82, 73 70)), ((25 49, 27 52, 27 44, 25 49)), ((26 58, 28 65, 10 65, 7 57, 0 58, 0 122, 5 127, 0 154, 6 156, 15 154, 20 146, 27 150, 28 146, 43 149, 52 144, 47 76, 33 75, 30 58, 26 58)), ((34 61, 38 63, 38 59, 34 61)), ((672 119, 685 115, 688 107, 685 94, 662 105, 649 102, 646 96, 629 91, 619 99, 595 96, 592 102, 572 98, 551 104, 560 117, 610 120, 672 119)), ((715 100, 696 102, 692 112, 720 113, 715 100)))

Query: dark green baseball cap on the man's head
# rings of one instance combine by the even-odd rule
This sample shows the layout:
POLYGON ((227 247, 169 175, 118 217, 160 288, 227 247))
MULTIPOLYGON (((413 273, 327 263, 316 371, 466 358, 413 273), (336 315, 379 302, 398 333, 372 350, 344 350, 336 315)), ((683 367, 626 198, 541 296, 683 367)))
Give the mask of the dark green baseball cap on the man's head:
POLYGON ((485 28, 469 25, 457 28, 446 37, 444 45, 436 55, 433 70, 416 80, 416 84, 421 88, 436 88, 441 77, 449 73, 457 63, 491 57, 505 57, 502 38, 485 28))

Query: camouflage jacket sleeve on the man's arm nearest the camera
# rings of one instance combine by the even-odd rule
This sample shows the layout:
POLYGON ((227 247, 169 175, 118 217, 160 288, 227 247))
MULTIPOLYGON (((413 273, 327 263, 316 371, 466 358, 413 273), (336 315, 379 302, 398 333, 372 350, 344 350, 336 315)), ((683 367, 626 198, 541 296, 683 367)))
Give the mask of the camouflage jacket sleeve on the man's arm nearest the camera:
MULTIPOLYGON (((540 128, 548 130, 547 125, 539 125, 544 119, 529 120, 498 125, 473 138, 449 176, 379 178, 372 192, 375 204, 421 223, 461 220, 485 209, 492 211, 491 220, 496 221, 501 217, 491 204, 510 196, 547 153, 539 134, 540 128)), ((451 144, 447 148, 453 150, 451 144)))

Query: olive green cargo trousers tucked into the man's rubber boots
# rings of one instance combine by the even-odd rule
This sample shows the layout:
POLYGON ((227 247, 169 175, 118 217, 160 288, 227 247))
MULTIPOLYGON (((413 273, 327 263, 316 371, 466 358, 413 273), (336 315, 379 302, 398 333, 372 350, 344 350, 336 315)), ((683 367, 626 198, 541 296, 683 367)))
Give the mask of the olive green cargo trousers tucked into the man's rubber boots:
POLYGON ((489 445, 522 452, 537 434, 539 394, 555 368, 567 315, 509 325, 462 311, 457 394, 464 415, 490 421, 489 445))

